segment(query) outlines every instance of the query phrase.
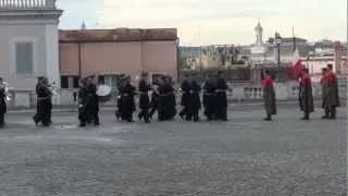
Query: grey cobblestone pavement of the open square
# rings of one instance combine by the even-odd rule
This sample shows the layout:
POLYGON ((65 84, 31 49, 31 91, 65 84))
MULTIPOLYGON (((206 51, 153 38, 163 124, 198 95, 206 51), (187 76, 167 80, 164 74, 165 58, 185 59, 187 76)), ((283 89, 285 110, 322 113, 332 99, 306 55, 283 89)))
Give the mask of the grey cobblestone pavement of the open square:
POLYGON ((54 113, 51 128, 9 114, 0 130, 1 196, 343 196, 345 110, 302 122, 294 108, 263 122, 262 108, 229 122, 115 122, 79 128, 54 113))

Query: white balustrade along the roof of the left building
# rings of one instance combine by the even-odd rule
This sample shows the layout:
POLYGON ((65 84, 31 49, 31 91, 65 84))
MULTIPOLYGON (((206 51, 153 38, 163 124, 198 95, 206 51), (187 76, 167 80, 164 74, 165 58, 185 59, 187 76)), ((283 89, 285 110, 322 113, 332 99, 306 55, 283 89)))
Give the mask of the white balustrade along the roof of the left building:
POLYGON ((0 10, 55 9, 55 0, 0 0, 0 10))

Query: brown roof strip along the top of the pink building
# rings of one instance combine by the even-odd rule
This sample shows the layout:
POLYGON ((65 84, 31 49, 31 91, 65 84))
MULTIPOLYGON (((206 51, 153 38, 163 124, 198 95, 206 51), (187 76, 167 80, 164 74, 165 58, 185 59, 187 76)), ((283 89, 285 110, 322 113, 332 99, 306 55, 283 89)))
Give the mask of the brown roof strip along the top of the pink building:
POLYGON ((59 30, 60 42, 176 40, 176 28, 114 28, 59 30))

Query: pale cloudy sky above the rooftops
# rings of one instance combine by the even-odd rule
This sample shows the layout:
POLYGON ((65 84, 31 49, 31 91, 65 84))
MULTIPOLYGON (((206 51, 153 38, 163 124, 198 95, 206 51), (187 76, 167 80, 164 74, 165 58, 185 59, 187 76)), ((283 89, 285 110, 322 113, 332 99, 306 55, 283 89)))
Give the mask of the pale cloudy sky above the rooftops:
POLYGON ((181 45, 249 45, 278 32, 309 41, 347 40, 347 0, 57 0, 60 28, 174 27, 181 45))

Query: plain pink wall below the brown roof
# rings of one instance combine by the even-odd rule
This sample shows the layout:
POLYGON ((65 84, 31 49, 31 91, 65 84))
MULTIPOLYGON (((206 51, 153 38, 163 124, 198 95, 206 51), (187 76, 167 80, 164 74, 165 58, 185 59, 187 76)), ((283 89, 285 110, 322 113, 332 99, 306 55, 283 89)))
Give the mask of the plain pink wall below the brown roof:
MULTIPOLYGON (((175 41, 86 42, 80 45, 82 76, 128 74, 141 71, 167 73, 177 77, 175 41)), ((62 75, 78 75, 78 45, 60 44, 62 75)))

